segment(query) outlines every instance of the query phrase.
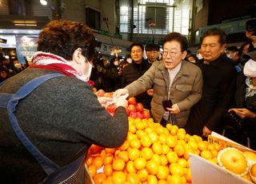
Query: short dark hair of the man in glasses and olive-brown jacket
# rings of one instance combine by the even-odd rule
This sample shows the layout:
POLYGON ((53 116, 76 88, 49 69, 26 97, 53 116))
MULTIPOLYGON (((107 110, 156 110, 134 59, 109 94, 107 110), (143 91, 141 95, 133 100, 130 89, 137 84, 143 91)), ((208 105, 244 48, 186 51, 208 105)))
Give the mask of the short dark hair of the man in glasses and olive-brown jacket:
POLYGON ((170 34, 167 34, 165 38, 163 38, 162 46, 165 45, 166 42, 176 41, 181 44, 181 50, 187 50, 188 42, 185 36, 183 36, 180 33, 173 32, 170 34))

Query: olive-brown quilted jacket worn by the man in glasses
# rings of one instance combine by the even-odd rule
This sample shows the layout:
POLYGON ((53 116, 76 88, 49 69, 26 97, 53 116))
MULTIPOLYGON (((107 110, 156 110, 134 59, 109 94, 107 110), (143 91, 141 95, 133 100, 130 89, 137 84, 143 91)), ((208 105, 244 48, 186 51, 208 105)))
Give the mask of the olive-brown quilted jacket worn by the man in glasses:
MULTIPOLYGON (((154 86, 151 114, 155 122, 160 122, 164 114, 162 102, 168 99, 170 77, 162 61, 154 62, 141 78, 126 86, 130 96, 141 94, 154 86)), ((202 72, 193 63, 182 61, 181 69, 170 87, 170 100, 177 103, 180 113, 176 115, 177 125, 186 125, 190 108, 202 97, 202 72)))

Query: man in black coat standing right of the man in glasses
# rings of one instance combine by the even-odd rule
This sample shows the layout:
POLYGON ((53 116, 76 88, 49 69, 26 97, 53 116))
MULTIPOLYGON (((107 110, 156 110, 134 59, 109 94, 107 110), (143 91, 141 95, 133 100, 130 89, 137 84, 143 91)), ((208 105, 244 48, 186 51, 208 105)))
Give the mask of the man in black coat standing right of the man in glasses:
POLYGON ((217 28, 206 30, 202 36, 202 98, 192 108, 186 130, 190 134, 207 137, 222 128, 222 116, 230 106, 234 94, 236 71, 223 58, 226 34, 217 28))

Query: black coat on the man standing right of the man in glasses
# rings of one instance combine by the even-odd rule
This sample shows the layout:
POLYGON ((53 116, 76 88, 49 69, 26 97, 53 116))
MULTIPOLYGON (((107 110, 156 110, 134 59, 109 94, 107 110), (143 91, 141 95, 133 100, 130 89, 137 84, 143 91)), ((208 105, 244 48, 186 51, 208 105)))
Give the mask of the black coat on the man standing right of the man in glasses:
POLYGON ((222 56, 209 64, 198 65, 204 81, 202 98, 192 108, 186 129, 190 134, 202 136, 203 126, 214 131, 222 127, 222 116, 234 95, 237 73, 222 56))

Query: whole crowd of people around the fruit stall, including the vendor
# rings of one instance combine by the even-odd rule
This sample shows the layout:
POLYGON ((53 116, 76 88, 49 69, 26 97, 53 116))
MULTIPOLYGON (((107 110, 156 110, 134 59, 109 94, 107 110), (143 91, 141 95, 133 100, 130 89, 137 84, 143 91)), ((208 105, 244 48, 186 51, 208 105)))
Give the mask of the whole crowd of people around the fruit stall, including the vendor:
POLYGON ((120 98, 126 96, 136 96, 154 122, 202 138, 222 133, 236 115, 255 150, 256 20, 246 22, 246 37, 239 48, 227 47, 223 30, 206 30, 193 54, 186 37, 174 32, 163 38, 162 51, 134 42, 129 57, 108 61, 96 54, 89 27, 48 23, 32 66, 8 75, 2 68, 15 70, 1 61, 1 78, 8 79, 0 85, 0 176, 16 183, 84 183, 82 162, 91 144, 117 147, 126 139, 128 104, 120 98), (118 99, 114 116, 104 108, 110 98, 94 94, 100 89, 118 99))

